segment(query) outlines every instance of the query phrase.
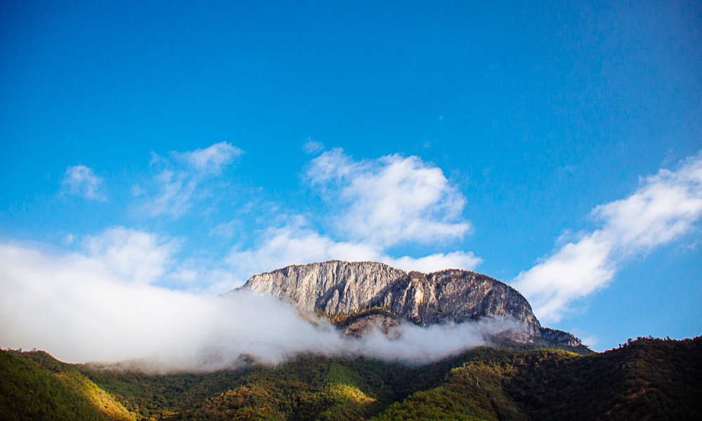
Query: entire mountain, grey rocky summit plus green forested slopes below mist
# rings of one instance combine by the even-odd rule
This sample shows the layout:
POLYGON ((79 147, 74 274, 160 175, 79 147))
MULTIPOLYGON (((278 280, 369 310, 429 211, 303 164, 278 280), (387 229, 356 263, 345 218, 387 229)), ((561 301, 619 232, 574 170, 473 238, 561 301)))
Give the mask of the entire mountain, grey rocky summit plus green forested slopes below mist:
POLYGON ((278 365, 242 358, 214 373, 67 364, 42 351, 0 349, 0 420, 697 420, 702 413, 702 337, 639 337, 595 353, 542 328, 519 292, 479 273, 327 261, 262 273, 228 294, 244 291, 273 294, 349 335, 492 316, 516 320, 524 335, 424 365, 302 352, 278 365))

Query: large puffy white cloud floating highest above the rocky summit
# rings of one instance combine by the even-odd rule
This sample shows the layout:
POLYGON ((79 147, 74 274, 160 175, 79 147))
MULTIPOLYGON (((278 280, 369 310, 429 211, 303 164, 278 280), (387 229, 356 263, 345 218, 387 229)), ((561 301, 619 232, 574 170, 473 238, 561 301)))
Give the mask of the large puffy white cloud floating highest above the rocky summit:
POLYGON ((307 176, 337 207, 336 228, 352 240, 389 246, 462 238, 465 198, 443 171, 419 157, 355 162, 337 148, 312 160, 307 176))

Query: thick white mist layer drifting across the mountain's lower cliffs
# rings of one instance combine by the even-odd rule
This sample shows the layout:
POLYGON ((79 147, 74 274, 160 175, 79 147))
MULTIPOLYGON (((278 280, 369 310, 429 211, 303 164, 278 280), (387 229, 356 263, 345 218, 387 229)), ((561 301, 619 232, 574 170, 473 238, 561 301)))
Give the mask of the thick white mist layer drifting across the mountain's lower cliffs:
POLYGON ((139 285, 100 259, 0 245, 0 346, 61 361, 141 361, 155 370, 216 370, 242 354, 278 363, 298 352, 425 363, 485 343, 509 320, 343 337, 269 296, 207 297, 139 285))

